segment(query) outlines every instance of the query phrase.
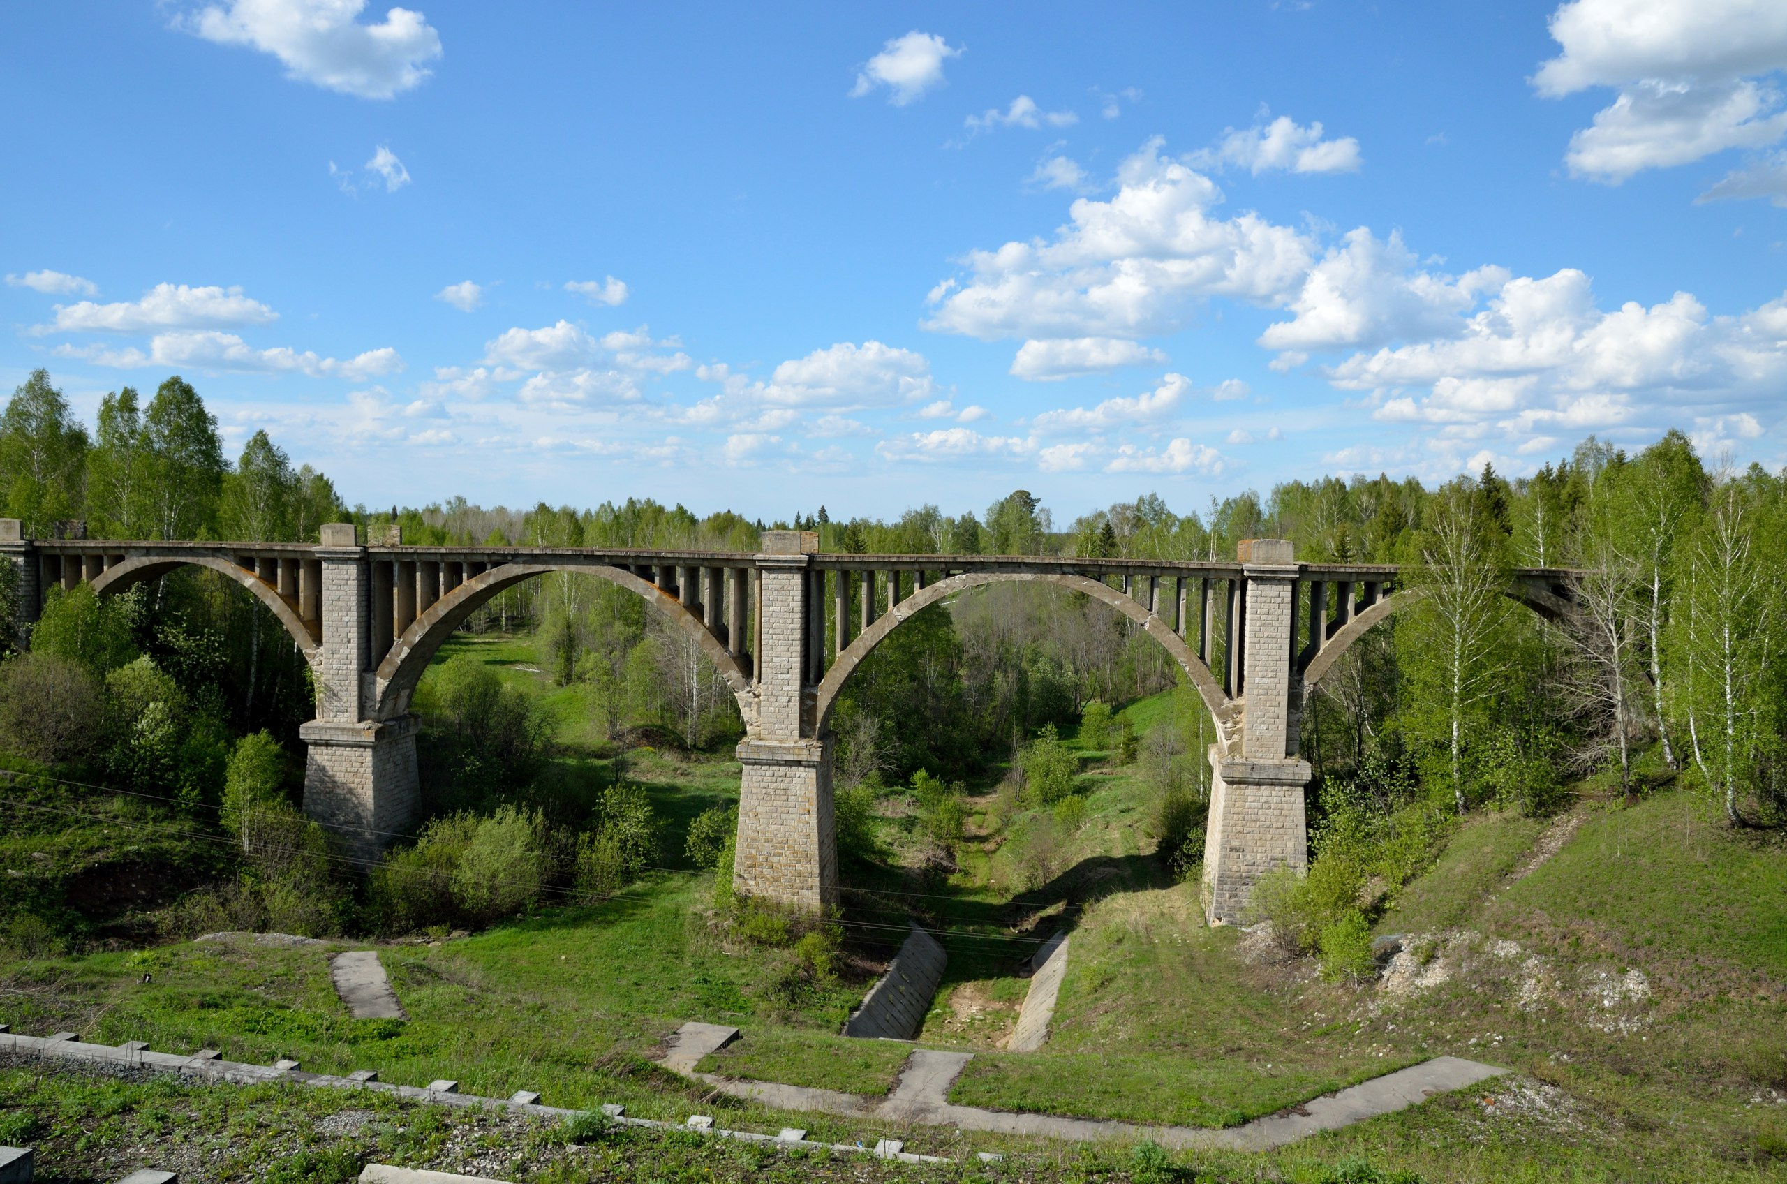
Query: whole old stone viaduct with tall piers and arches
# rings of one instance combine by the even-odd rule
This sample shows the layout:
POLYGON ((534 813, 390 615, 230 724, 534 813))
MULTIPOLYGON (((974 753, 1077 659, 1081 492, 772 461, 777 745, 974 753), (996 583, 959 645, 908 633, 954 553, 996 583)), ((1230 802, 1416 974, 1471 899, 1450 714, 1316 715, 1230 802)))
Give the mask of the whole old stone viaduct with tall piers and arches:
MULTIPOLYGON (((300 730, 304 810, 366 862, 413 821, 409 699, 441 642, 533 576, 568 571, 629 588, 701 644, 738 699, 736 887, 802 909, 838 903, 831 708, 876 644, 922 608, 977 585, 1047 583, 1103 601, 1160 642, 1215 723, 1203 901, 1212 919, 1237 921, 1262 873, 1306 864, 1305 696, 1408 601, 1396 567, 1297 563, 1276 538, 1242 542, 1233 563, 1187 563, 820 554, 804 531, 767 531, 758 554, 363 545, 350 524, 323 526, 316 545, 30 540, 0 519, 0 554, 18 567, 27 637, 57 585, 86 581, 105 596, 198 565, 259 597, 316 685, 316 719, 300 730)), ((1508 594, 1558 617, 1567 572, 1515 572, 1508 594)))

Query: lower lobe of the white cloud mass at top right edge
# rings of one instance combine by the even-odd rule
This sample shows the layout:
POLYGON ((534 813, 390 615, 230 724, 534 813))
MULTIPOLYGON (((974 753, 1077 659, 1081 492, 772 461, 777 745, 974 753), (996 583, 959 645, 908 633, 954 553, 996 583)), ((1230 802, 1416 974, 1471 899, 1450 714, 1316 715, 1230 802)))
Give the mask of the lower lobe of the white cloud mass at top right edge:
POLYGON ((1569 141, 1571 173, 1619 184, 1646 168, 1689 165, 1726 148, 1757 148, 1787 134, 1780 95, 1755 82, 1639 80, 1569 141))

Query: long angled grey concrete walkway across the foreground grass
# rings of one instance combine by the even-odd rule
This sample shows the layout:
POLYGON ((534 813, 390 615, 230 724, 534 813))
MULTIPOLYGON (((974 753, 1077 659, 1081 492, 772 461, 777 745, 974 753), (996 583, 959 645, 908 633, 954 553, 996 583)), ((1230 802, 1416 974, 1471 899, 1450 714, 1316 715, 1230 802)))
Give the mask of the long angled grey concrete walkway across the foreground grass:
MULTIPOLYGON (((692 1027, 692 1025, 684 1025, 692 1027)), ((711 1025, 699 1025, 711 1027, 711 1025)), ((1263 1152, 1285 1143, 1296 1143, 1319 1130, 1335 1130, 1378 1114, 1392 1114, 1437 1093, 1464 1089, 1506 1070, 1460 1057, 1435 1057, 1396 1073, 1385 1073, 1369 1082, 1340 1089, 1305 1102, 1288 1114, 1256 1118, 1240 1127, 1212 1130, 1206 1127, 1158 1127, 1147 1123, 1108 1121, 1099 1118, 1060 1118, 1054 1114, 1013 1114, 988 1111, 977 1105, 951 1105, 949 1089, 974 1053, 913 1050, 894 1091, 885 1098, 867 1098, 836 1089, 811 1089, 777 1082, 733 1080, 715 1073, 684 1071, 718 1093, 761 1102, 788 1111, 817 1111, 826 1114, 872 1116, 922 1127, 956 1127, 961 1130, 994 1130, 999 1134, 1028 1134, 1049 1139, 1154 1139, 1172 1148, 1233 1148, 1263 1152)), ((665 1062, 667 1068, 670 1062, 665 1062)), ((679 1070, 683 1071, 683 1070, 679 1070)))

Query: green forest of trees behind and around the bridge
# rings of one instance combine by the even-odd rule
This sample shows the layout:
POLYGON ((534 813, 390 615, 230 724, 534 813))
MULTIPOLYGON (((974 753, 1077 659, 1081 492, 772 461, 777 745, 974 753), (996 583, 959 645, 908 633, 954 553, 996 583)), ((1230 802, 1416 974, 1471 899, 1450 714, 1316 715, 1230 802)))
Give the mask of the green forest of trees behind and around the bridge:
MULTIPOLYGON (((1290 538, 1306 562, 1399 563, 1403 587, 1422 592, 1305 706, 1317 853, 1347 850, 1358 875, 1388 875, 1383 853, 1431 846, 1447 819, 1544 816, 1585 782, 1628 801, 1692 785, 1728 826, 1787 823, 1787 478, 1708 461, 1678 431, 1635 451, 1589 438, 1512 479, 1485 467, 1437 488, 1381 474, 1287 481, 1183 512, 1147 494, 1070 522, 1026 490, 979 512, 926 504, 894 520, 826 506, 776 522, 697 517, 649 499, 368 510, 293 467, 264 431, 229 460, 180 377, 148 399, 107 395, 89 429, 39 370, 0 415, 0 495, 30 537, 302 542, 350 520, 406 544, 751 551, 763 529, 793 526, 836 553, 1160 560, 1229 560, 1242 538, 1290 538), (1503 596, 1528 567, 1567 569, 1576 612, 1544 621, 1503 596)), ((16 619, 16 603, 5 612, 16 619)), ((141 862, 184 869, 179 907, 155 921, 168 932, 479 925, 547 898, 600 896, 681 858, 661 850, 663 819, 624 757, 642 746, 727 757, 740 717, 699 647, 638 597, 575 574, 518 585, 465 628, 529 639, 540 674, 575 689, 595 748, 566 753, 538 701, 488 665, 436 665, 416 698, 415 842, 354 869, 297 810, 309 676, 254 597, 207 571, 105 601, 54 590, 29 653, 0 664, 9 816, 32 833, 73 833, 70 812, 100 799, 120 825, 152 814, 161 832, 141 862)), ((944 830, 960 816, 951 799, 1013 780, 1074 798, 1070 776, 1044 789, 1058 780, 1060 737, 1120 732, 1113 710, 1178 685, 1145 633, 1067 590, 994 585, 926 610, 865 662, 833 719, 845 858, 888 794, 917 792, 944 830)), ((1145 765, 1160 853, 1190 875, 1212 732, 1196 696, 1174 703, 1172 726, 1145 742, 1113 735, 1112 748, 1145 765)), ((724 858, 718 828, 704 825, 697 862, 724 858)), ((695 848, 692 835, 690 858, 695 848)), ((66 891, 43 878, 0 885, 0 941, 120 937, 82 921, 66 891)))

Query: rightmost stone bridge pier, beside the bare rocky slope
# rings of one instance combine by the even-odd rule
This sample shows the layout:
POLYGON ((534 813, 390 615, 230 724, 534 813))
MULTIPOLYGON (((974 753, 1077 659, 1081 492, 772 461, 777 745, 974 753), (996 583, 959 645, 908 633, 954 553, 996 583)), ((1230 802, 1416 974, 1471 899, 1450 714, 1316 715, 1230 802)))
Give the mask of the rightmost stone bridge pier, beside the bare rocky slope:
POLYGON ((1303 683, 1290 653, 1297 612, 1297 565, 1290 544, 1242 544, 1246 599, 1238 603, 1242 730, 1238 751, 1210 749, 1213 771, 1204 832, 1203 905, 1212 921, 1246 919, 1254 882, 1274 867, 1308 866, 1303 787, 1310 765, 1297 758, 1303 683))

